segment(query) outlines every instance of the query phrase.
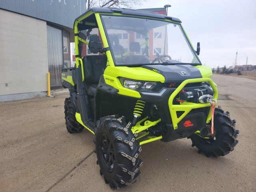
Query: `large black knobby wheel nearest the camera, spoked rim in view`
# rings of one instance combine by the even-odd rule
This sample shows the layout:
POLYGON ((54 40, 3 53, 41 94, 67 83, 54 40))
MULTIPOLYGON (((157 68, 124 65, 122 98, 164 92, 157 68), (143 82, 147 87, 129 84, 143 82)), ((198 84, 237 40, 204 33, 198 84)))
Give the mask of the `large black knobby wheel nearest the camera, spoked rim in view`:
POLYGON ((124 116, 107 116, 97 124, 97 164, 106 184, 113 189, 135 182, 140 176, 142 161, 138 158, 141 147, 135 140, 137 134, 130 130, 131 124, 126 124, 124 116))

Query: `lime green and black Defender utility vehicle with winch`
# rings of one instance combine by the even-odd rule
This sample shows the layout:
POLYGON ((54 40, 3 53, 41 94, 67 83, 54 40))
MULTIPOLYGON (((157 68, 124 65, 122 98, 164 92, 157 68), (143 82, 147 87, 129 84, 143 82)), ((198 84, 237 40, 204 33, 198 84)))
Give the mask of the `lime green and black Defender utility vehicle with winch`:
POLYGON ((95 135, 97 164, 111 188, 140 176, 142 145, 190 138, 206 156, 238 143, 235 120, 215 108, 216 84, 177 18, 91 8, 74 22, 76 65, 62 70, 68 132, 95 135), (214 110, 215 109, 215 110, 214 110))

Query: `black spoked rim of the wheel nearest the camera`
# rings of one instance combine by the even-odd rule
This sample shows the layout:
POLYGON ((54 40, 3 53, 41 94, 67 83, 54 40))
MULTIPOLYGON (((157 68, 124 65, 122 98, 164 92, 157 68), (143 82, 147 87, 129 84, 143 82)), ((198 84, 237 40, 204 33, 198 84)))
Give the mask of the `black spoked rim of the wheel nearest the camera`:
POLYGON ((112 172, 115 167, 114 148, 106 134, 100 136, 100 158, 105 169, 112 172))

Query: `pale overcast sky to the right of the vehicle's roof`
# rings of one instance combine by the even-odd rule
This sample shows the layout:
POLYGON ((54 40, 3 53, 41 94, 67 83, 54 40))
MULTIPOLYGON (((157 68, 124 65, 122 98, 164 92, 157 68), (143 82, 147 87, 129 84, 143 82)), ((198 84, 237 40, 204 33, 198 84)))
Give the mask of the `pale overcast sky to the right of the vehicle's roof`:
POLYGON ((200 42, 200 60, 207 66, 256 65, 256 0, 148 0, 140 8, 172 7, 194 48, 200 42))

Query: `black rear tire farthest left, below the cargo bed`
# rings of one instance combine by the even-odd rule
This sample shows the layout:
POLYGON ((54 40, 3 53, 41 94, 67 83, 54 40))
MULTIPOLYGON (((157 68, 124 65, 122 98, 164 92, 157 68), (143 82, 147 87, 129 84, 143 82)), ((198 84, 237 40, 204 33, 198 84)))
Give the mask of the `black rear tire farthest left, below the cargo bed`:
POLYGON ((76 121, 76 109, 72 105, 70 97, 65 99, 64 113, 66 127, 69 133, 76 133, 84 130, 84 126, 82 126, 79 122, 76 121))

